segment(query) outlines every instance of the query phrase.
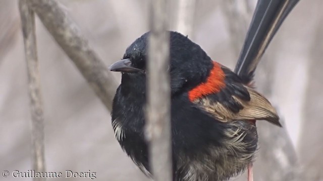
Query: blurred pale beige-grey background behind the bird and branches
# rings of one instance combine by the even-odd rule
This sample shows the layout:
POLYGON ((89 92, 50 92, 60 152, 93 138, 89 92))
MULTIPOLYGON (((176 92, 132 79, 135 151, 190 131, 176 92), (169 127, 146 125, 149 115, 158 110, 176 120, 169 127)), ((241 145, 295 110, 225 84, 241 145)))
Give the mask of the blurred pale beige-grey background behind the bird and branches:
MULTIPOLYGON (((148 31, 146 0, 61 0, 106 66, 148 31)), ((234 68, 256 0, 202 0, 188 37, 234 68)), ((31 115, 16 0, 0 0, 0 171, 32 169, 31 115)), ((323 1, 300 1, 258 66, 259 92, 278 108, 284 128, 258 122, 255 180, 323 180, 323 1)), ((177 29, 177 1, 170 5, 177 29)), ((114 138, 110 113, 36 18, 45 116, 47 171, 94 171, 96 180, 148 180, 114 138)), ((120 74, 113 74, 120 82, 120 74)), ((62 178, 62 180, 89 178, 62 178)), ((0 180, 31 178, 0 177, 0 180)), ((55 179, 50 179, 55 180, 55 179)), ((232 180, 246 180, 243 174, 232 180)))

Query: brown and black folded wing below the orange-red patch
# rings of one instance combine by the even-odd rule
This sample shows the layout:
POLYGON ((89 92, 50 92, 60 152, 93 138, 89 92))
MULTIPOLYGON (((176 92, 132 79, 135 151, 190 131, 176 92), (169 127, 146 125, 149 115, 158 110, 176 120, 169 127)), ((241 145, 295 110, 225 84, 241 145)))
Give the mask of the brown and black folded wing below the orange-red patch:
POLYGON ((271 103, 253 88, 241 83, 229 68, 225 72, 225 86, 221 91, 195 99, 193 102, 217 120, 267 120, 281 126, 279 116, 271 103))

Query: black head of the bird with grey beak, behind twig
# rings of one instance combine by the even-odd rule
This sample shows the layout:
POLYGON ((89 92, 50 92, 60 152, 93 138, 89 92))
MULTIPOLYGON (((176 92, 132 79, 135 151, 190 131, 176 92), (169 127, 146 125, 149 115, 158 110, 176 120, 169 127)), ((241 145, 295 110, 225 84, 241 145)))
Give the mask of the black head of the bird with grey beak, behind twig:
MULTIPOLYGON (((111 71, 122 72, 122 84, 131 85, 132 89, 145 88, 148 36, 149 32, 136 39, 127 48, 123 59, 110 66, 111 71)), ((168 70, 172 95, 188 91, 205 81, 212 66, 211 59, 199 45, 180 33, 170 32, 168 70)))

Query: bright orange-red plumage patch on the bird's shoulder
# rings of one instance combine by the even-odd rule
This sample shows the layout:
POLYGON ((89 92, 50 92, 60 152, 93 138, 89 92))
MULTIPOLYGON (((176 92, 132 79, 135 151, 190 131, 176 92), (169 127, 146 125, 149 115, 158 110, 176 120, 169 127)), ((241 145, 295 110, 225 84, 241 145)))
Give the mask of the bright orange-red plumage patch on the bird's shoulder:
POLYGON ((210 71, 205 82, 200 83, 191 91, 188 92, 188 98, 191 102, 203 96, 219 93, 222 88, 226 86, 225 73, 223 72, 221 65, 213 61, 213 68, 210 71))

